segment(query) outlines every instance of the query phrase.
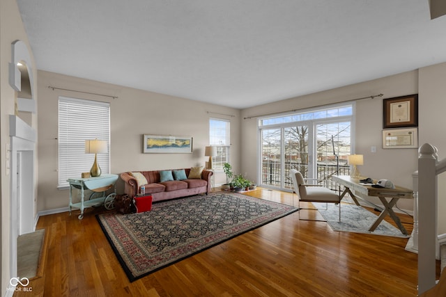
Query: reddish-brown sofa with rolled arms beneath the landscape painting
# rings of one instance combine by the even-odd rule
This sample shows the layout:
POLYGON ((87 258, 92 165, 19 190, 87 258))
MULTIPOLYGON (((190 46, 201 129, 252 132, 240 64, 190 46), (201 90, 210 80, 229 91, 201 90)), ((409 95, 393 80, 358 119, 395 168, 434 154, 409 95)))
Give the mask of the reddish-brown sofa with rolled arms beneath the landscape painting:
MULTIPOLYGON (((133 171, 121 173, 121 179, 124 181, 124 193, 134 196, 139 193, 139 187, 142 186, 137 183, 137 178, 132 174, 134 172, 140 172, 146 178, 147 184, 144 184, 146 188, 146 194, 151 194, 153 202, 160 200, 168 200, 173 198, 185 197, 190 195, 196 195, 200 193, 206 193, 212 191, 212 183, 210 181, 213 172, 210 170, 203 170, 201 172, 201 179, 188 178, 191 168, 173 169, 183 170, 187 179, 181 180, 169 180, 167 182, 161 182, 160 172, 168 170, 152 170, 152 171, 133 171)), ((175 177, 174 177, 175 179, 175 177)))

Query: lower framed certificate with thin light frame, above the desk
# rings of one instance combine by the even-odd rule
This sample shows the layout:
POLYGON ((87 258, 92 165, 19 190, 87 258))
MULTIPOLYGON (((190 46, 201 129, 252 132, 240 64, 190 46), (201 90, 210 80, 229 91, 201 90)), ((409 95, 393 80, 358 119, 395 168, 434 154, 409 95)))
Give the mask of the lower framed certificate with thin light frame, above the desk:
POLYGON ((383 148, 418 148, 418 128, 383 130, 383 148))

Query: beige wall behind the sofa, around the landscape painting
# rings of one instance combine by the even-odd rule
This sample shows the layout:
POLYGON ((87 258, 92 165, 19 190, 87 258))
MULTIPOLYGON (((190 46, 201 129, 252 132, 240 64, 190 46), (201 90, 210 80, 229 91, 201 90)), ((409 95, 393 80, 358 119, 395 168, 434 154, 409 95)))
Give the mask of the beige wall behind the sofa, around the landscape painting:
MULTIPOLYGON (((174 86, 172 86, 174 88, 174 86)), ((39 183, 38 211, 68 206, 68 190, 57 190, 57 120, 58 97, 75 97, 110 102, 111 107, 111 172, 162 170, 204 166, 204 147, 209 143, 209 118, 231 120, 231 163, 238 170, 240 151, 240 111, 169 95, 68 77, 52 72, 38 72, 39 117, 39 183), (118 96, 117 99, 52 90, 48 86, 89 93, 118 96), (219 115, 215 113, 222 113, 219 115), (230 115, 235 115, 231 117, 230 115), (192 136, 192 154, 143 154, 142 135, 192 136)), ((90 168, 85 168, 89 171, 90 168)), ((217 173, 215 183, 222 184, 224 174, 217 173)), ((118 190, 122 188, 118 184, 118 190)))

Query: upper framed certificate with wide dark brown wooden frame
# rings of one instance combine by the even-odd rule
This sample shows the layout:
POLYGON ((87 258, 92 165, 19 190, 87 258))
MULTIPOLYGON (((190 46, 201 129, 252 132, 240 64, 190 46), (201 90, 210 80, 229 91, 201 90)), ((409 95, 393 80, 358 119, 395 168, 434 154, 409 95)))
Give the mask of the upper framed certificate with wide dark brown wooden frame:
POLYGON ((383 100, 383 129, 417 126, 417 94, 383 100))

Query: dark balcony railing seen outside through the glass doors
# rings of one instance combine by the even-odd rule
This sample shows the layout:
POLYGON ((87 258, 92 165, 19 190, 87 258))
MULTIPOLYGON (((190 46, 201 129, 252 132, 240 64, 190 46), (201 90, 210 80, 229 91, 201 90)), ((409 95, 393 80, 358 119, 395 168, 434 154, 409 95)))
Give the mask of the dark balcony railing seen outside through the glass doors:
MULTIPOLYGON (((307 177, 308 164, 298 163, 293 161, 285 162, 284 168, 284 188, 293 188, 293 182, 290 178, 290 170, 296 169, 302 172, 304 177, 307 177)), ((332 182, 332 175, 350 175, 350 167, 348 165, 337 165, 327 163, 318 163, 317 165, 317 179, 323 186, 337 190, 337 184, 332 182), (339 172, 338 172, 339 171, 339 172)), ((282 184, 282 166, 279 161, 263 161, 261 183, 269 186, 281 187, 282 184)))

